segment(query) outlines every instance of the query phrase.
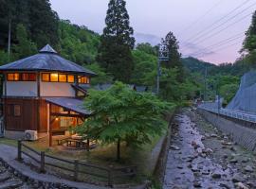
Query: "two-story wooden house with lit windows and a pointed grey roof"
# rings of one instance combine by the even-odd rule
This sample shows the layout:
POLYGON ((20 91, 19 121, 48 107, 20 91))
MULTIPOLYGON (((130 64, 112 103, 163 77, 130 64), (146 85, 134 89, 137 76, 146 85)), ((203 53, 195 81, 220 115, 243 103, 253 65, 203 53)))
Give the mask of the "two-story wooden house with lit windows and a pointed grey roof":
POLYGON ((0 66, 0 72, 6 137, 24 138, 26 130, 39 137, 62 135, 90 114, 82 98, 95 73, 65 60, 48 44, 39 54, 0 66))

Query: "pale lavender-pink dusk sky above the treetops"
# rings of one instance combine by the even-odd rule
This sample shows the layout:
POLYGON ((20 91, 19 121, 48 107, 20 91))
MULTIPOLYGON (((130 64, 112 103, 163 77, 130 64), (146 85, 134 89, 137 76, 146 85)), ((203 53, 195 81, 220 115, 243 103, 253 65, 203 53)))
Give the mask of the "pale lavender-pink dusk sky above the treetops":
MULTIPOLYGON (((61 19, 101 32, 108 0, 50 0, 61 19)), ((212 63, 239 58, 255 0, 127 0, 139 42, 157 43, 169 31, 184 57, 212 63), (147 34, 147 35, 144 35, 147 34), (227 40, 227 41, 224 41, 227 40)))

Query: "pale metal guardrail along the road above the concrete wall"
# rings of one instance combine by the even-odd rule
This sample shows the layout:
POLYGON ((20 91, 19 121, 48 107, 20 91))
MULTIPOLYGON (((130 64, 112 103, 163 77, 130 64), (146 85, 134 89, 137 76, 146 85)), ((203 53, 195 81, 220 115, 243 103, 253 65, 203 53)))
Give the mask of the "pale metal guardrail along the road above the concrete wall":
POLYGON ((206 106, 207 104, 202 104, 199 105, 198 108, 199 109, 203 109, 205 111, 208 112, 214 112, 217 114, 221 114, 221 115, 226 115, 228 117, 231 118, 235 118, 235 119, 240 119, 243 121, 247 121, 247 122, 251 122, 251 123, 256 123, 256 114, 250 114, 247 112, 238 112, 238 111, 232 111, 229 109, 217 109, 217 108, 210 108, 206 106))

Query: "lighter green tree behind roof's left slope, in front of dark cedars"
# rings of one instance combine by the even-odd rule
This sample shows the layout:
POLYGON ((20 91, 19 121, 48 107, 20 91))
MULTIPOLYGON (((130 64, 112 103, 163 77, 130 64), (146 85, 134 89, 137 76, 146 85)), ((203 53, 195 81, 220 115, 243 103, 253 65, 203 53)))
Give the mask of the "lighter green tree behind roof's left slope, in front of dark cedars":
POLYGON ((17 25, 16 38, 18 43, 14 45, 13 49, 15 54, 17 54, 18 59, 26 58, 32 54, 37 53, 37 48, 35 43, 32 43, 27 37, 27 30, 23 25, 17 25))

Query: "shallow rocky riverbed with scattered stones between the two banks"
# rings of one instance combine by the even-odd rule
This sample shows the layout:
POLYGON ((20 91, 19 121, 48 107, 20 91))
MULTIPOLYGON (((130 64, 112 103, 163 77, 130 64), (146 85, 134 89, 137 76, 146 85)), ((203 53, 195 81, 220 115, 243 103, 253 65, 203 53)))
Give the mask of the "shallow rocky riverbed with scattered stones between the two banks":
POLYGON ((255 155, 196 112, 177 114, 172 135, 164 189, 256 188, 255 155))

